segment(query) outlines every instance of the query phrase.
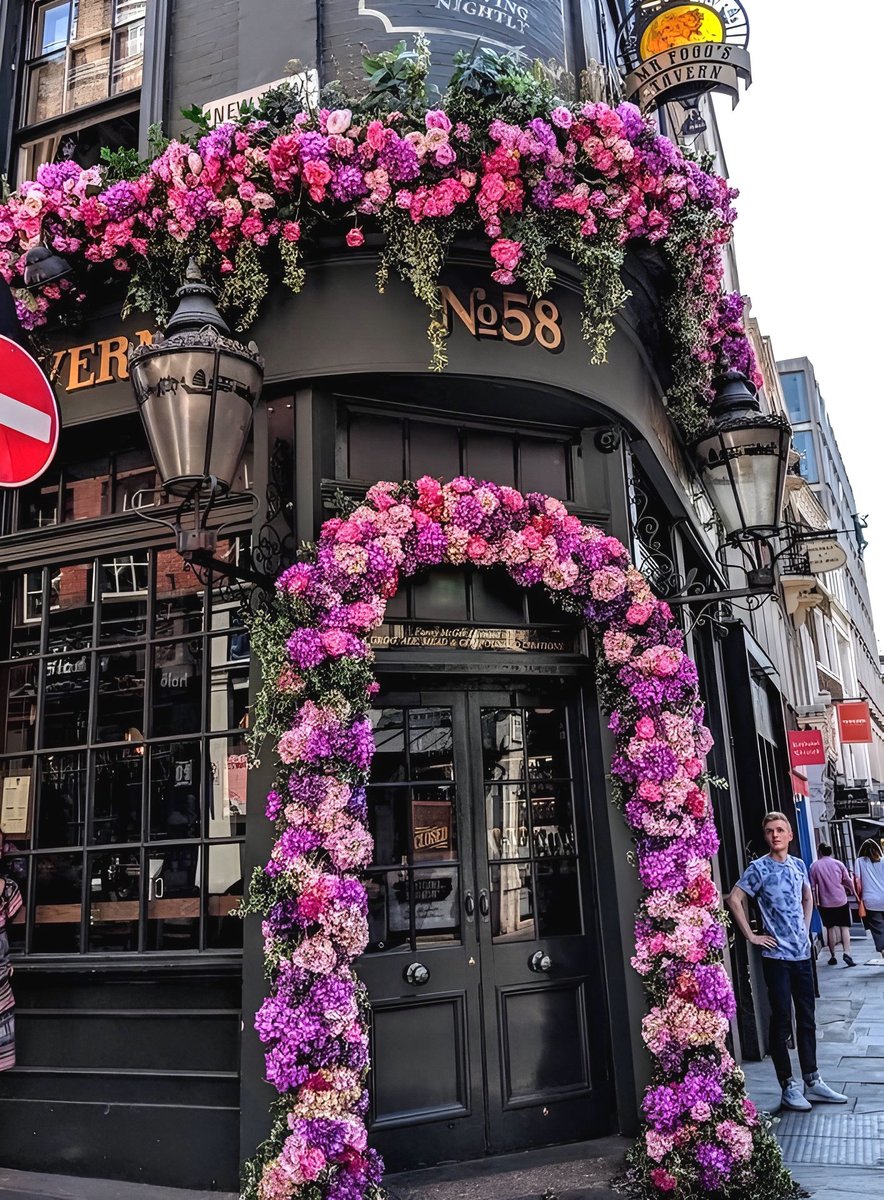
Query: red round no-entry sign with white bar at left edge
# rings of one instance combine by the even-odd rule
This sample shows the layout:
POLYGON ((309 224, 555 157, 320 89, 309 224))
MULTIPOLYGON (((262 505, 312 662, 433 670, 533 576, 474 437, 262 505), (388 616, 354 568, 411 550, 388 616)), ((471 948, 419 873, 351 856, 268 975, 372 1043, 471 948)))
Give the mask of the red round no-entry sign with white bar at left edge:
POLYGON ((0 487, 38 479, 59 444, 55 392, 26 350, 0 336, 0 487))

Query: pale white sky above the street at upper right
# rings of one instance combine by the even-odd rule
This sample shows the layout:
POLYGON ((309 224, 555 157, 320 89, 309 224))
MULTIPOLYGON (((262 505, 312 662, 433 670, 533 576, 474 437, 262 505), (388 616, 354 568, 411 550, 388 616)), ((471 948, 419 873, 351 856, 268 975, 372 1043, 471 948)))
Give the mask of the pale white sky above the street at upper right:
POLYGON ((860 514, 884 650, 882 0, 744 0, 752 85, 715 107, 740 190, 740 288, 777 359, 816 368, 860 514))

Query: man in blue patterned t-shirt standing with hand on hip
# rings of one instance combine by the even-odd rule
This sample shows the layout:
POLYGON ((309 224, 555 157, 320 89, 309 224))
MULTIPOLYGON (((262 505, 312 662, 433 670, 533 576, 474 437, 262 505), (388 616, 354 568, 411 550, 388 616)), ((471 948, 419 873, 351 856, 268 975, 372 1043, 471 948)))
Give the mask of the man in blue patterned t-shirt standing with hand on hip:
POLYGON ((783 1108, 807 1112, 811 1100, 847 1104, 847 1097, 824 1084, 817 1070, 817 1024, 810 928, 813 893, 807 868, 789 853, 792 826, 783 812, 769 812, 762 822, 770 852, 750 863, 736 881, 727 905, 746 941, 762 947, 764 982, 770 1001, 770 1057, 774 1060, 783 1108), (764 922, 756 934, 748 923, 748 900, 754 898, 764 922), (792 1078, 789 1037, 795 1006, 798 1057, 804 1090, 792 1078))

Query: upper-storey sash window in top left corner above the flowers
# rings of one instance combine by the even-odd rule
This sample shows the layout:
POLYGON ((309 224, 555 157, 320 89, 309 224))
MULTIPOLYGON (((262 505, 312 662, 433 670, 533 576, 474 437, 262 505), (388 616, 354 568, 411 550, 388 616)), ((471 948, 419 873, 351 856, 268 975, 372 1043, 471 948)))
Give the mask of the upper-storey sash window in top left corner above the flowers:
POLYGON ((31 7, 19 119, 19 181, 44 162, 91 167, 138 144, 146 0, 31 7))

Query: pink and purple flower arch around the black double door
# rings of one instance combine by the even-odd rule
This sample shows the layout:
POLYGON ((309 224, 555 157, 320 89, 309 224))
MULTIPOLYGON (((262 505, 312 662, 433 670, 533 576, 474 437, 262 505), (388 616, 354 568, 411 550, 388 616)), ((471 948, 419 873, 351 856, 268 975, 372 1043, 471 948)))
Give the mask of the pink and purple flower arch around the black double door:
POLYGON ((368 936, 359 872, 372 857, 367 714, 378 685, 367 635, 402 578, 463 563, 503 565, 524 587, 543 584, 595 636, 615 738, 612 793, 645 889, 632 964, 648 994, 643 1036, 654 1080, 630 1154, 630 1190, 794 1195, 726 1046, 734 997, 711 880, 718 838, 703 764, 711 738, 681 632, 617 539, 560 500, 463 476, 375 484, 349 516, 325 522, 253 626, 265 678, 255 724, 277 739, 281 772, 267 798, 278 838, 247 907, 264 916, 271 989, 255 1027, 279 1100, 243 1195, 383 1195, 383 1164, 365 1126, 367 1002, 354 974, 368 936))

